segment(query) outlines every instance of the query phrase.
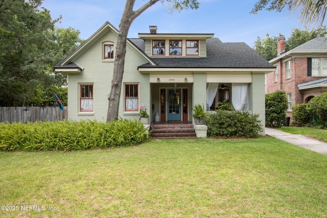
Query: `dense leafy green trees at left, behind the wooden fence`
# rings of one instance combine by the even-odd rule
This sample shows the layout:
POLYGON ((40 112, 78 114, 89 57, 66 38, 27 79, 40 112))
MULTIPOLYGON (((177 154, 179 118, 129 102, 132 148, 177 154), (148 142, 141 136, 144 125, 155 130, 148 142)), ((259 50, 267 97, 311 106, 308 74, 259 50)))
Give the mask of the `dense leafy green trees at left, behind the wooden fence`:
POLYGON ((53 66, 74 50, 79 31, 55 28, 42 0, 0 1, 0 106, 42 105, 65 79, 53 66))

